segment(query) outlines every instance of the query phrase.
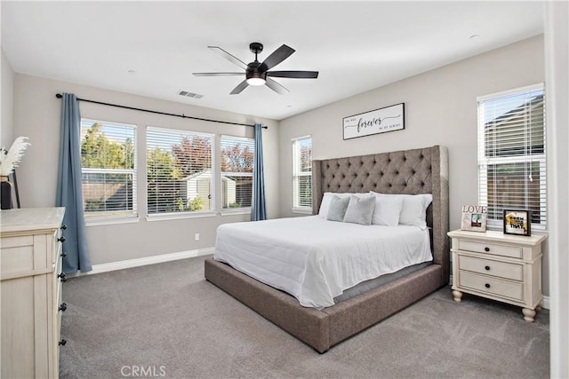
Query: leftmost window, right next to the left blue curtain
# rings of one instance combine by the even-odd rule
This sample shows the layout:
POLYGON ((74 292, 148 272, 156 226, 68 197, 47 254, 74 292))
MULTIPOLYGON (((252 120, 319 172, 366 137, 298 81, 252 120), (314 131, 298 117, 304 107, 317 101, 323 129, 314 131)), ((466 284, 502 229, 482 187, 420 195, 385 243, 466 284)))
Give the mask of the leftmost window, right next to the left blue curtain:
POLYGON ((136 127, 81 120, 85 217, 136 216, 136 127))

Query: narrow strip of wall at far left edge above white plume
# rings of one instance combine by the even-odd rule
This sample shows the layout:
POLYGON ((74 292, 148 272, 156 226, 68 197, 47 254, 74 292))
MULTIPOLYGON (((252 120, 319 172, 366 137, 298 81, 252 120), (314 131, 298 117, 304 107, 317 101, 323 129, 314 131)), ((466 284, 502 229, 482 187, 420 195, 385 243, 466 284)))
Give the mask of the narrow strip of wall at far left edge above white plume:
POLYGON ((0 86, 2 87, 2 123, 0 124, 0 147, 10 148, 14 140, 13 137, 13 91, 14 91, 14 73, 12 67, 4 54, 4 50, 0 49, 2 54, 0 66, 2 68, 2 76, 0 76, 0 86))

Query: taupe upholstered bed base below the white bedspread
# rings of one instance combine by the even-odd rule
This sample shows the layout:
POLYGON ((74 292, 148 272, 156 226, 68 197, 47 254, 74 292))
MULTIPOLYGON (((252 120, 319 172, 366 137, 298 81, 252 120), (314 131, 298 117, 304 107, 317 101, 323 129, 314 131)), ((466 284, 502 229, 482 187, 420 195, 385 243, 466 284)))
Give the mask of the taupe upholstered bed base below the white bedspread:
POLYGON ((440 288, 441 266, 429 265, 365 294, 323 310, 305 308, 272 288, 213 259, 205 261, 205 278, 276 326, 318 352, 354 336, 440 288), (355 312, 357 309, 357 312, 355 312))

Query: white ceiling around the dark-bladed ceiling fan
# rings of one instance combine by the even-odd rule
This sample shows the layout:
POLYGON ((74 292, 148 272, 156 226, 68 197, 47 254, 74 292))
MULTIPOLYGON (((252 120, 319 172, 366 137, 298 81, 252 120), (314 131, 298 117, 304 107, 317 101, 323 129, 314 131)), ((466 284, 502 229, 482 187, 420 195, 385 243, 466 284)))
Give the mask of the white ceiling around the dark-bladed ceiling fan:
POLYGON ((543 32, 541 2, 3 0, 1 6, 2 49, 16 73, 276 120, 543 32), (192 75, 239 71, 207 46, 248 63, 252 42, 265 46, 260 61, 283 43, 293 47, 274 69, 319 71, 318 78, 276 78, 290 90, 284 95, 266 86, 229 95, 244 77, 192 75), (204 97, 183 98, 180 90, 204 97))

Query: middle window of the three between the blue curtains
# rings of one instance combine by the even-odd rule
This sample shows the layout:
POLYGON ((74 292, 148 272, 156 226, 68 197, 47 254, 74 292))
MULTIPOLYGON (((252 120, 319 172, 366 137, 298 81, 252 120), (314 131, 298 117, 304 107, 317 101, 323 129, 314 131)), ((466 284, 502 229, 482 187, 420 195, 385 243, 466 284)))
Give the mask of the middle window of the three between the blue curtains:
POLYGON ((147 128, 148 215, 212 210, 213 135, 147 128))

